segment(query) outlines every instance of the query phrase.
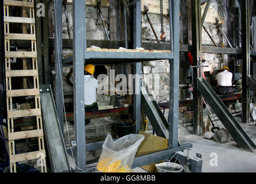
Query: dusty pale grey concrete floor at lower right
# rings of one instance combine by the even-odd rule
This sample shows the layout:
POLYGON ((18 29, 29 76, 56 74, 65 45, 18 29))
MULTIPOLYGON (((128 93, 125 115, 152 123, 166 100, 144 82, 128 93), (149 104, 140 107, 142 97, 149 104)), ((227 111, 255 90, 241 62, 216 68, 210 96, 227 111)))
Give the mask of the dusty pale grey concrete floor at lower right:
MULTIPOLYGON (((240 123, 244 131, 256 143, 256 126, 240 123)), ((256 150, 253 152, 245 151, 236 146, 235 141, 225 144, 217 143, 214 140, 207 140, 204 136, 192 134, 179 137, 180 144, 192 143, 191 156, 196 153, 202 155, 203 173, 255 173, 256 172, 256 150), (211 154, 217 154, 217 166, 211 166, 211 154)), ((214 154, 214 155, 216 155, 214 154)))

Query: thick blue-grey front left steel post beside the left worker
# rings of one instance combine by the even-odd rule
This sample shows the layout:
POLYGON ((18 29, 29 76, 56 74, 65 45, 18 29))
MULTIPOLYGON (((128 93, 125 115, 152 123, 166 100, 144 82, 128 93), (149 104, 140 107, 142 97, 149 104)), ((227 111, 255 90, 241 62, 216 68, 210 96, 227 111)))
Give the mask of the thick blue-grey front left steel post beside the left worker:
POLYGON ((85 108, 84 108, 84 51, 86 49, 85 1, 73 1, 73 71, 74 71, 74 131, 76 139, 76 164, 86 169, 85 108), (84 40, 84 41, 81 41, 84 40))

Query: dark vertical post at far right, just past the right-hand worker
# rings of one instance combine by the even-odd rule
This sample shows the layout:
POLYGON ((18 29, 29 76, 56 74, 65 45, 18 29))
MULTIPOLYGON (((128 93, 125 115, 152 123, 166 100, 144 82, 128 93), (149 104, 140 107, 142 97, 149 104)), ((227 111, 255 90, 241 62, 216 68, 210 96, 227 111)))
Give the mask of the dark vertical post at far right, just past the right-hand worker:
POLYGON ((250 14, 249 0, 241 1, 242 8, 242 59, 243 59, 243 83, 242 83, 242 120, 249 122, 250 89, 247 76, 250 75, 250 14))

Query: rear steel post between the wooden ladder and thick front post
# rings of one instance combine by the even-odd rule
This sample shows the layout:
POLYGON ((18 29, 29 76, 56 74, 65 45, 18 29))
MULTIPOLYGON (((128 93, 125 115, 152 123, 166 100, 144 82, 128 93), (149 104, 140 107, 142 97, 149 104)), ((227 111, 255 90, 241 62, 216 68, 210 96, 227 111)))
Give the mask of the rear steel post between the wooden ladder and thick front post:
POLYGON ((63 134, 63 86, 62 86, 62 1, 54 1, 55 10, 55 102, 63 134))

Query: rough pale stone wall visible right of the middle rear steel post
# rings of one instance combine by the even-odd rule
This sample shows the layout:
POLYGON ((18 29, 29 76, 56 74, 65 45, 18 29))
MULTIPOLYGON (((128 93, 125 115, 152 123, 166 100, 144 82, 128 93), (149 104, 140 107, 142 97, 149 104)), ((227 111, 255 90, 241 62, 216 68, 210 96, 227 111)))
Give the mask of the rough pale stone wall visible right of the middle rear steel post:
MULTIPOLYGON (((188 7, 190 4, 188 5, 188 7)), ((219 47, 221 47, 221 43, 225 44, 225 47, 227 46, 227 43, 224 39, 224 37, 221 35, 220 31, 216 28, 216 25, 213 25, 213 22, 207 21, 209 20, 215 20, 216 14, 219 15, 218 17, 223 18, 224 25, 223 30, 224 32, 227 31, 227 16, 225 15, 225 11, 223 9, 220 9, 219 3, 217 1, 212 1, 212 5, 209 7, 209 12, 213 14, 208 14, 205 21, 205 28, 208 30, 210 35, 212 36, 213 40, 217 43, 219 47)), ((203 13, 202 9, 202 13, 203 13)), ((158 37, 160 39, 160 15, 157 14, 149 14, 150 21, 152 22, 156 33, 158 34, 158 37)), ((183 22, 183 21, 181 21, 183 22)), ((166 32, 166 42, 170 42, 170 25, 169 21, 166 17, 164 17, 164 28, 166 32)), ((186 32, 184 30, 187 30, 187 25, 180 25, 180 38, 182 40, 182 37, 186 37, 186 32)), ((153 31, 150 27, 150 24, 146 18, 145 15, 142 15, 142 41, 150 42, 150 43, 157 43, 155 35, 153 34, 153 31)), ((205 30, 202 28, 202 45, 209 45, 214 46, 212 41, 210 40, 208 34, 206 34, 205 30)), ((167 49, 167 48, 163 48, 167 49)), ((202 55, 203 59, 206 60, 205 65, 209 66, 204 68, 204 72, 210 72, 210 74, 213 74, 217 71, 219 71, 222 67, 221 63, 228 63, 228 56, 227 55, 221 55, 216 53, 203 53, 202 55)), ((180 86, 186 86, 189 85, 186 78, 188 76, 189 71, 189 60, 186 57, 186 53, 180 53, 180 86)), ((163 61, 152 61, 152 62, 145 62, 143 63, 144 68, 144 74, 145 78, 148 78, 149 75, 152 74, 159 74, 160 75, 160 94, 155 95, 155 99, 157 102, 166 102, 169 100, 169 85, 170 85, 170 66, 168 60, 163 61)), ((152 85, 149 83, 149 85, 152 85)), ((153 94, 155 94, 153 89, 153 94)), ((189 98, 189 93, 187 90, 183 90, 180 87, 180 99, 186 99, 189 98)))

